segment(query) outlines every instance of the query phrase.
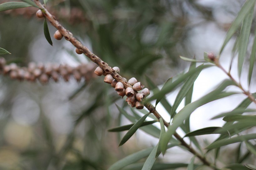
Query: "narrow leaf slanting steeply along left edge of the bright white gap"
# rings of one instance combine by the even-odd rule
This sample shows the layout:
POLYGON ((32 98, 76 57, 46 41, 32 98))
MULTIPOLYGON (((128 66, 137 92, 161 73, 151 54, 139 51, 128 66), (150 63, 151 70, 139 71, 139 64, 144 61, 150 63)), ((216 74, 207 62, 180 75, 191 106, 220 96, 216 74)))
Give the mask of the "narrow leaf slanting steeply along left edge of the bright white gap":
POLYGON ((186 82, 183 84, 183 86, 180 88, 179 93, 177 94, 177 97, 174 101, 174 104, 172 106, 171 109, 171 117, 175 116, 175 111, 178 108, 178 106, 180 105, 180 102, 183 100, 183 98, 186 96, 186 94, 188 93, 188 91, 190 90, 190 88, 193 86, 195 80, 197 79, 197 77, 199 76, 200 72, 196 72, 193 75, 191 75, 186 82))

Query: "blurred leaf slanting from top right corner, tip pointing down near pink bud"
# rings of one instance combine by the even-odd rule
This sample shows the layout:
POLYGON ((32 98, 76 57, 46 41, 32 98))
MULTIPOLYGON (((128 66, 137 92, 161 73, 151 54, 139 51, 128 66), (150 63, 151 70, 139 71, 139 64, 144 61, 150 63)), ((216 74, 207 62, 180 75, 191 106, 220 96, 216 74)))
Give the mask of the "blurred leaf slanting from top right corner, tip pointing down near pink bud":
POLYGON ((219 55, 222 53, 222 51, 223 51, 224 47, 226 46, 226 44, 229 42, 231 37, 237 31, 237 29, 241 25, 242 21, 244 20, 244 18, 250 12, 250 10, 248 10, 248 9, 251 9, 251 7, 254 7, 254 3, 255 3, 255 0, 249 0, 249 1, 246 1, 244 3, 243 7, 241 8, 241 10, 237 14, 237 17, 235 18, 235 20, 232 22, 231 26, 229 27, 229 30, 228 30, 228 32, 226 34, 224 43, 223 43, 223 45, 222 45, 222 47, 220 49, 219 55))

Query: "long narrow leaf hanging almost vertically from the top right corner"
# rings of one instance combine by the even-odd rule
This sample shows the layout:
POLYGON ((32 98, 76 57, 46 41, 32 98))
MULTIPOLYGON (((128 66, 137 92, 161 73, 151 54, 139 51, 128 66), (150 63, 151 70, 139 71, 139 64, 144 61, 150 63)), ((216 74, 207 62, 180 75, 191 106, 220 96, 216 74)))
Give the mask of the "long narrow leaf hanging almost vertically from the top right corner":
MULTIPOLYGON (((252 0, 251 0, 252 1, 252 0)), ((248 8, 249 13, 244 18, 241 32, 239 35, 239 45, 238 45, 238 75, 241 76, 244 58, 247 51, 247 45, 249 42, 250 30, 253 21, 253 14, 254 14, 254 5, 248 8)))

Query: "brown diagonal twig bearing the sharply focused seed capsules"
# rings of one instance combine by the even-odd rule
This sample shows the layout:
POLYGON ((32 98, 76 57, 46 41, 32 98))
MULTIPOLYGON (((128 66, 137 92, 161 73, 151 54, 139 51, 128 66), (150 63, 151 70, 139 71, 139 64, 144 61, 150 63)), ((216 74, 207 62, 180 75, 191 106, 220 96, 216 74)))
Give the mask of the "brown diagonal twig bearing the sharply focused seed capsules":
MULTIPOLYGON (((116 71, 111 68, 106 62, 104 62, 103 60, 101 60, 99 57, 97 57, 95 54, 93 54, 86 46, 82 45, 80 41, 78 41, 71 32, 69 32, 68 30, 66 30, 57 20, 54 16, 52 16, 52 14, 50 14, 47 9, 38 1, 35 0, 35 3, 37 4, 37 6, 40 7, 40 9, 42 10, 44 16, 47 18, 48 21, 50 21, 50 23, 52 24, 52 26, 54 26, 55 28, 57 28, 57 30, 60 31, 60 33, 65 37, 66 40, 70 41, 72 45, 74 45, 76 48, 78 48, 80 51, 83 52, 83 54, 85 54, 89 59, 91 59, 91 61, 93 61, 94 63, 96 63, 97 65, 99 65, 106 73, 111 74, 112 77, 114 79, 116 79, 116 81, 121 82, 124 84, 124 87, 131 87, 132 86, 123 78, 121 77, 118 73, 116 73, 116 71)), ((150 103, 146 103, 145 107, 155 115, 155 117, 157 117, 158 119, 160 119, 161 115, 158 113, 158 111, 156 111, 155 107, 150 103)), ((168 127, 170 124, 168 122, 166 122, 163 119, 164 125, 166 127, 168 127)), ((204 157, 202 157, 199 153, 197 153, 193 148, 190 147, 189 144, 187 144, 181 137, 179 134, 175 133, 174 134, 175 138, 178 139, 181 144, 183 146, 185 146, 186 148, 189 149, 189 151, 191 153, 193 153, 194 155, 196 155, 205 165, 208 165, 210 167, 213 167, 213 165, 211 165, 211 163, 209 163, 204 157)), ((213 167, 214 169, 218 169, 213 167)))

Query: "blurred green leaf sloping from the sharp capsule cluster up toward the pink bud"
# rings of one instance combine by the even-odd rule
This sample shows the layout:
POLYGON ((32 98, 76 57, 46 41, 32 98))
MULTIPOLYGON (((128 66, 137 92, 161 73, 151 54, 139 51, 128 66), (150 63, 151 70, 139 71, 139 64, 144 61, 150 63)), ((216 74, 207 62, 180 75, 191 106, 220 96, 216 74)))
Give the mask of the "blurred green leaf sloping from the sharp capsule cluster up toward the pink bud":
POLYGON ((146 99, 145 102, 154 100, 154 99, 158 99, 158 98, 162 98, 165 96, 165 94, 173 91, 175 89, 175 87, 177 87, 180 83, 182 83, 183 81, 185 81, 188 77, 190 77, 191 75, 193 75, 194 73, 197 73, 199 71, 202 71, 204 68, 208 68, 211 67, 212 65, 199 65, 197 68, 191 69, 190 71, 188 71, 187 73, 181 75, 177 80, 175 80, 174 82, 167 82, 166 86, 163 87, 159 92, 155 92, 154 95, 148 99, 146 99))

